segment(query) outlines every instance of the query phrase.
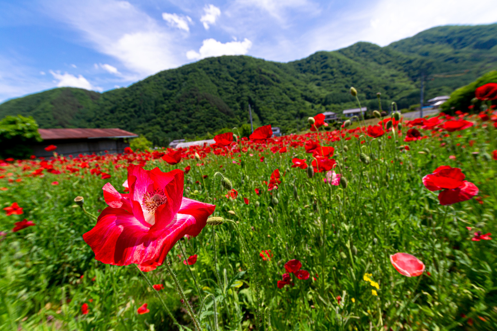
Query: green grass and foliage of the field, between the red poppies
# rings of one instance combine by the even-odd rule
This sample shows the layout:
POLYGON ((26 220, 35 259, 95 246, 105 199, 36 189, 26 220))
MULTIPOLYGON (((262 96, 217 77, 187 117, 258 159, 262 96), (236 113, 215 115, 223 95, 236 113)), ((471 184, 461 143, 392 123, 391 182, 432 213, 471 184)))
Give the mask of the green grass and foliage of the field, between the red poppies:
MULTIPOLYGON (((190 270, 200 293, 178 257, 182 256, 178 245, 169 252, 172 268, 196 312, 205 300, 199 316, 203 330, 215 330, 213 298, 217 330, 254 330, 256 282, 260 330, 496 330, 495 240, 470 240, 475 229, 496 231, 497 161, 487 156, 496 149, 493 126, 473 126, 447 137, 442 132, 409 143, 410 151, 398 148, 405 144, 402 137, 398 142, 387 135, 357 140, 352 133, 350 140, 326 142, 332 135, 320 132, 323 145, 335 148, 333 158, 348 178, 346 188, 325 184, 323 174, 308 178, 306 170, 291 168, 293 153, 310 160, 302 147, 287 146, 289 152, 281 155, 269 148, 249 149, 242 155, 243 166, 232 162, 239 159, 238 154, 231 159, 210 153, 201 166, 192 159, 174 166, 161 159, 146 162, 146 169, 159 166, 163 171, 191 165, 185 175, 185 196, 205 202, 216 198, 214 215, 239 223, 248 245, 244 252, 242 238, 230 222, 206 226, 196 238, 181 241, 187 256, 198 254, 190 270), (361 145, 361 140, 366 143, 361 145), (348 151, 342 150, 342 143, 348 151), (371 163, 361 162, 360 152, 369 155, 371 163), (451 155, 455 160, 449 159, 451 155), (440 165, 460 167, 466 180, 480 189, 483 204, 474 198, 441 206, 436 192, 421 182, 440 165), (282 183, 269 192, 262 181, 269 181, 276 168, 282 183), (225 197, 227 191, 219 179, 214 180, 216 171, 233 182, 236 200, 225 197), (208 175, 206 188, 202 174, 208 175), (260 196, 255 188, 261 189, 260 196), (243 197, 249 199, 248 205, 243 197), (270 260, 259 256, 263 249, 271 250, 270 260), (398 273, 389 260, 396 252, 414 254, 429 275, 409 278, 398 273), (256 278, 247 253, 254 261, 256 278), (311 277, 293 277, 294 286, 278 289, 284 264, 292 258, 299 259, 311 277), (372 274, 379 289, 363 280, 365 273, 372 274)), ((430 136, 430 132, 424 134, 430 136)), ((128 163, 119 161, 116 168, 111 158, 91 161, 91 167, 97 163, 111 174, 107 180, 91 175, 88 168, 28 176, 39 167, 38 161, 0 166, 0 175, 5 176, 0 187, 7 188, 0 190, 1 205, 17 202, 24 208, 22 215, 0 215, 0 229, 8 232, 0 242, 1 330, 177 330, 135 266, 96 261, 82 239, 95 222, 73 199, 83 196, 86 210, 98 214, 106 207, 103 184, 109 181, 122 192, 128 163), (31 168, 23 171, 26 165, 31 168), (9 178, 21 181, 9 182, 9 178), (51 185, 54 180, 60 184, 51 185), (36 226, 9 232, 23 218, 36 226), (89 306, 87 315, 81 313, 83 303, 89 306), (148 303, 150 313, 138 315, 136 310, 143 303, 148 303)), ((79 164, 72 160, 67 164, 73 163, 79 164)), ((59 162, 54 166, 61 167, 59 162)), ((165 285, 158 294, 178 323, 193 329, 166 267, 147 276, 152 284, 165 285)))

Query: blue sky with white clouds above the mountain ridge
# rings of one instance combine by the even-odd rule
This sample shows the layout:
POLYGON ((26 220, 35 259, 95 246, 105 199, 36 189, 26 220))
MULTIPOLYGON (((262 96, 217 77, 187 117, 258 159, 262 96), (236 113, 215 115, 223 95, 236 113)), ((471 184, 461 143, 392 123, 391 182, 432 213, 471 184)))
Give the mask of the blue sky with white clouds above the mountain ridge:
POLYGON ((0 102, 57 86, 128 86, 209 56, 288 62, 496 21, 495 0, 0 0, 0 102))

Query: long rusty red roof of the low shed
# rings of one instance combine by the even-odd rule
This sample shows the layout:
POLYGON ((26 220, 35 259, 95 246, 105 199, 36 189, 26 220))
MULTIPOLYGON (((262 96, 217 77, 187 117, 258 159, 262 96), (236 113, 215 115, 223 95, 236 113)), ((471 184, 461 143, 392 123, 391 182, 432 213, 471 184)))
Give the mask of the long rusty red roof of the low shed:
POLYGON ((43 140, 138 137, 121 129, 38 129, 38 132, 43 140))

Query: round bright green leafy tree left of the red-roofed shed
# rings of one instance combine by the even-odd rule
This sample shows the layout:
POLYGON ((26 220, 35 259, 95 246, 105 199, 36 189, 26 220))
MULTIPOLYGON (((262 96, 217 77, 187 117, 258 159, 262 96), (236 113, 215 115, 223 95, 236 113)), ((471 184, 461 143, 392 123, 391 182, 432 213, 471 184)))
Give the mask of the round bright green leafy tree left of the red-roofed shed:
POLYGON ((0 121, 0 157, 25 159, 33 154, 32 145, 41 142, 33 117, 5 116, 0 121))

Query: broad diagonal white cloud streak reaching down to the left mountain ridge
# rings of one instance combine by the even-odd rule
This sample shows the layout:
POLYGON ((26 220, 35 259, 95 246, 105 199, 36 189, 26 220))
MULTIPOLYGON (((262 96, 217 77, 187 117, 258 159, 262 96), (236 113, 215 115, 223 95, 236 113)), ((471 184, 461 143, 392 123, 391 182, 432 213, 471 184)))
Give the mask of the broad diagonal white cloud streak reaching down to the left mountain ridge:
POLYGON ((180 36, 166 31, 128 1, 52 0, 44 5, 47 14, 81 31, 97 51, 116 58, 135 73, 126 80, 181 65, 177 45, 180 36))

